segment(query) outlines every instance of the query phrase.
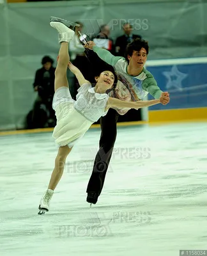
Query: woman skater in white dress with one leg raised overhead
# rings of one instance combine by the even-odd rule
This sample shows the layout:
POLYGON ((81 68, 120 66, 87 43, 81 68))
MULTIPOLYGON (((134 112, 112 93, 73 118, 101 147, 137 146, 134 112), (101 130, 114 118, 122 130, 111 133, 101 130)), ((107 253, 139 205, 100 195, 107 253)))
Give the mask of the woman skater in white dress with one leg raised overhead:
POLYGON ((65 26, 60 19, 50 22, 50 26, 57 29, 59 43, 61 44, 55 72, 55 94, 52 102, 52 108, 56 111, 57 117, 57 125, 52 136, 59 150, 49 186, 40 200, 38 214, 44 214, 45 211, 49 211, 54 189, 63 175, 66 157, 75 142, 82 138, 93 122, 96 122, 100 116, 106 115, 109 108, 139 109, 160 103, 160 99, 126 102, 109 97, 105 92, 111 89, 114 81, 116 82, 117 80, 113 70, 105 70, 95 77, 96 85, 92 87, 91 83, 84 79, 81 71, 70 63, 68 43, 72 40, 74 31, 65 26), (81 86, 78 90, 76 101, 72 99, 68 88, 66 77, 68 67, 75 74, 81 86))

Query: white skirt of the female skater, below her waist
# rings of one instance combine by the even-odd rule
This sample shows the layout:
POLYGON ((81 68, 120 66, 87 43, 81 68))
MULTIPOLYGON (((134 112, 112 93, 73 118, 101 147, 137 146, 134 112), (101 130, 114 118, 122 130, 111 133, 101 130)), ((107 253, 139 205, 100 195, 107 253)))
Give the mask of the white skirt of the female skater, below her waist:
POLYGON ((57 124, 52 137, 58 147, 73 147, 93 124, 75 110, 74 102, 69 88, 63 86, 56 90, 52 108, 56 111, 57 124))

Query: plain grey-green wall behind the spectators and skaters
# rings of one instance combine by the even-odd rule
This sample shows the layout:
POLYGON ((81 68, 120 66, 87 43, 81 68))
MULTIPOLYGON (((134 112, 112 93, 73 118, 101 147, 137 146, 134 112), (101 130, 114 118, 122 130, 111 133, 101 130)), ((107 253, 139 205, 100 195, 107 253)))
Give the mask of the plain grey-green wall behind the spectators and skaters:
POLYGON ((206 56, 207 3, 202 1, 57 1, 0 5, 0 129, 21 128, 33 106, 34 73, 45 54, 56 59, 57 34, 51 15, 79 20, 84 32, 109 24, 111 36, 121 24, 149 41, 149 60, 206 56), (127 3, 125 3, 127 2, 127 3))

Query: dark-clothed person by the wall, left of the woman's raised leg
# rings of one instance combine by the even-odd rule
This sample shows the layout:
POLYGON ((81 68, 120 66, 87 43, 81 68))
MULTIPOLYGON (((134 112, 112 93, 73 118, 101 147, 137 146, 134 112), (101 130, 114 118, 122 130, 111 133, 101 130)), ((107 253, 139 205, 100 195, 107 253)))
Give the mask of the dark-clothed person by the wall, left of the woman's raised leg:
POLYGON ((54 60, 49 56, 42 58, 42 68, 36 70, 34 78, 34 92, 38 96, 34 101, 32 126, 33 128, 54 127, 56 117, 52 109, 52 99, 54 96, 54 74, 56 68, 52 65, 54 60))

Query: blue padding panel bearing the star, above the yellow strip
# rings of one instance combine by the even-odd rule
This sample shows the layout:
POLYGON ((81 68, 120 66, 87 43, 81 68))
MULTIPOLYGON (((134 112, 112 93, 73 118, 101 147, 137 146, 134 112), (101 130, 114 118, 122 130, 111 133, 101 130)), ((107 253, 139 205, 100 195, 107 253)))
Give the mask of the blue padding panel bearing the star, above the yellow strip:
MULTIPOLYGON (((169 92, 171 101, 149 110, 207 107, 207 63, 146 67, 158 86, 169 92)), ((148 99, 153 99, 150 93, 148 99)))

